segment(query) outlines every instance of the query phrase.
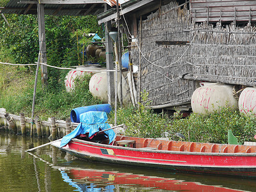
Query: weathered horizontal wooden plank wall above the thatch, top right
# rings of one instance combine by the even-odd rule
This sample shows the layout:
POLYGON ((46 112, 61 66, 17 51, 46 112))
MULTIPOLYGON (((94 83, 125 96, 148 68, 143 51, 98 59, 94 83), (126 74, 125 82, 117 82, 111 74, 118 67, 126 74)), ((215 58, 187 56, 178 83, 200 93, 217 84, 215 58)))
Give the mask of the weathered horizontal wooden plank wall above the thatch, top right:
POLYGON ((196 22, 256 20, 255 0, 191 0, 190 8, 196 22))

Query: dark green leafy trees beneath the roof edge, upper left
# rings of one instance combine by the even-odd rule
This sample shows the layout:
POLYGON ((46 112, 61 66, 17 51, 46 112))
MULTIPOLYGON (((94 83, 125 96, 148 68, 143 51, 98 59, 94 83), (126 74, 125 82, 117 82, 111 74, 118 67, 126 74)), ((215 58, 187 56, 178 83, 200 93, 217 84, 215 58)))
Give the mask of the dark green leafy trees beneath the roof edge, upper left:
MULTIPOLYGON (((15 63, 35 63, 39 49, 36 15, 5 16, 10 27, 0 17, 1 49, 10 49, 9 57, 12 56, 15 63)), ((81 54, 85 42, 90 40, 86 38, 86 33, 96 32, 103 37, 102 26, 98 25, 97 17, 93 15, 83 17, 45 15, 47 64, 55 67, 83 64, 82 57, 81 60, 77 60, 77 53, 81 54)), ((35 67, 33 68, 35 70, 35 67)), ((56 68, 48 68, 49 88, 52 92, 60 89, 63 76, 56 68)))

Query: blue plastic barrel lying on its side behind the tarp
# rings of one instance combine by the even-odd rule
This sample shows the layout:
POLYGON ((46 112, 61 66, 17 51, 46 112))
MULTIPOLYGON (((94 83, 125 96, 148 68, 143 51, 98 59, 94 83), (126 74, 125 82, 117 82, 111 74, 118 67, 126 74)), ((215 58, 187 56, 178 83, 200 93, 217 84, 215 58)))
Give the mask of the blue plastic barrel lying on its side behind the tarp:
POLYGON ((88 112, 88 111, 105 111, 107 114, 110 113, 112 110, 111 105, 109 104, 99 104, 94 106, 85 106, 81 108, 75 108, 72 109, 70 112, 70 118, 71 121, 74 123, 80 123, 79 116, 82 113, 88 112))

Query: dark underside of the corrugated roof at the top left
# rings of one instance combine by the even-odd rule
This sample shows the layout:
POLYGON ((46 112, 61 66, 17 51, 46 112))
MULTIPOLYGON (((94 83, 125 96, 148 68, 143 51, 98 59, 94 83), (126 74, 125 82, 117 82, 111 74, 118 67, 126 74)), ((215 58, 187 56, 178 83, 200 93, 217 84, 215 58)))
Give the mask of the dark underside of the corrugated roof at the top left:
MULTIPOLYGON (((20 0, 10 0, 2 13, 37 14, 36 4, 18 3, 20 0)), ((26 1, 28 2, 28 1, 26 1)), ((45 15, 97 15, 104 12, 104 3, 90 4, 45 4, 45 15)))

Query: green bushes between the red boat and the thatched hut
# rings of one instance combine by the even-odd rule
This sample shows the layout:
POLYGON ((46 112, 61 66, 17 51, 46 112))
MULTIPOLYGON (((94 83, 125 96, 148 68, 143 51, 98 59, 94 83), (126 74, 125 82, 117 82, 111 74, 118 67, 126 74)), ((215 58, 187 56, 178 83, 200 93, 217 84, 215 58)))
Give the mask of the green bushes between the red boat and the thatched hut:
MULTIPOLYGON (((125 134, 143 138, 165 137, 169 133, 170 140, 180 140, 176 132, 184 134, 184 141, 204 143, 227 143, 228 129, 232 130, 238 141, 255 141, 256 116, 243 115, 232 108, 220 108, 209 115, 192 113, 188 118, 182 118, 177 111, 171 118, 162 118, 147 108, 147 93, 142 95, 143 104, 139 109, 122 108, 117 111, 117 124, 127 125, 125 134)), ((114 114, 109 122, 113 124, 114 114)))

